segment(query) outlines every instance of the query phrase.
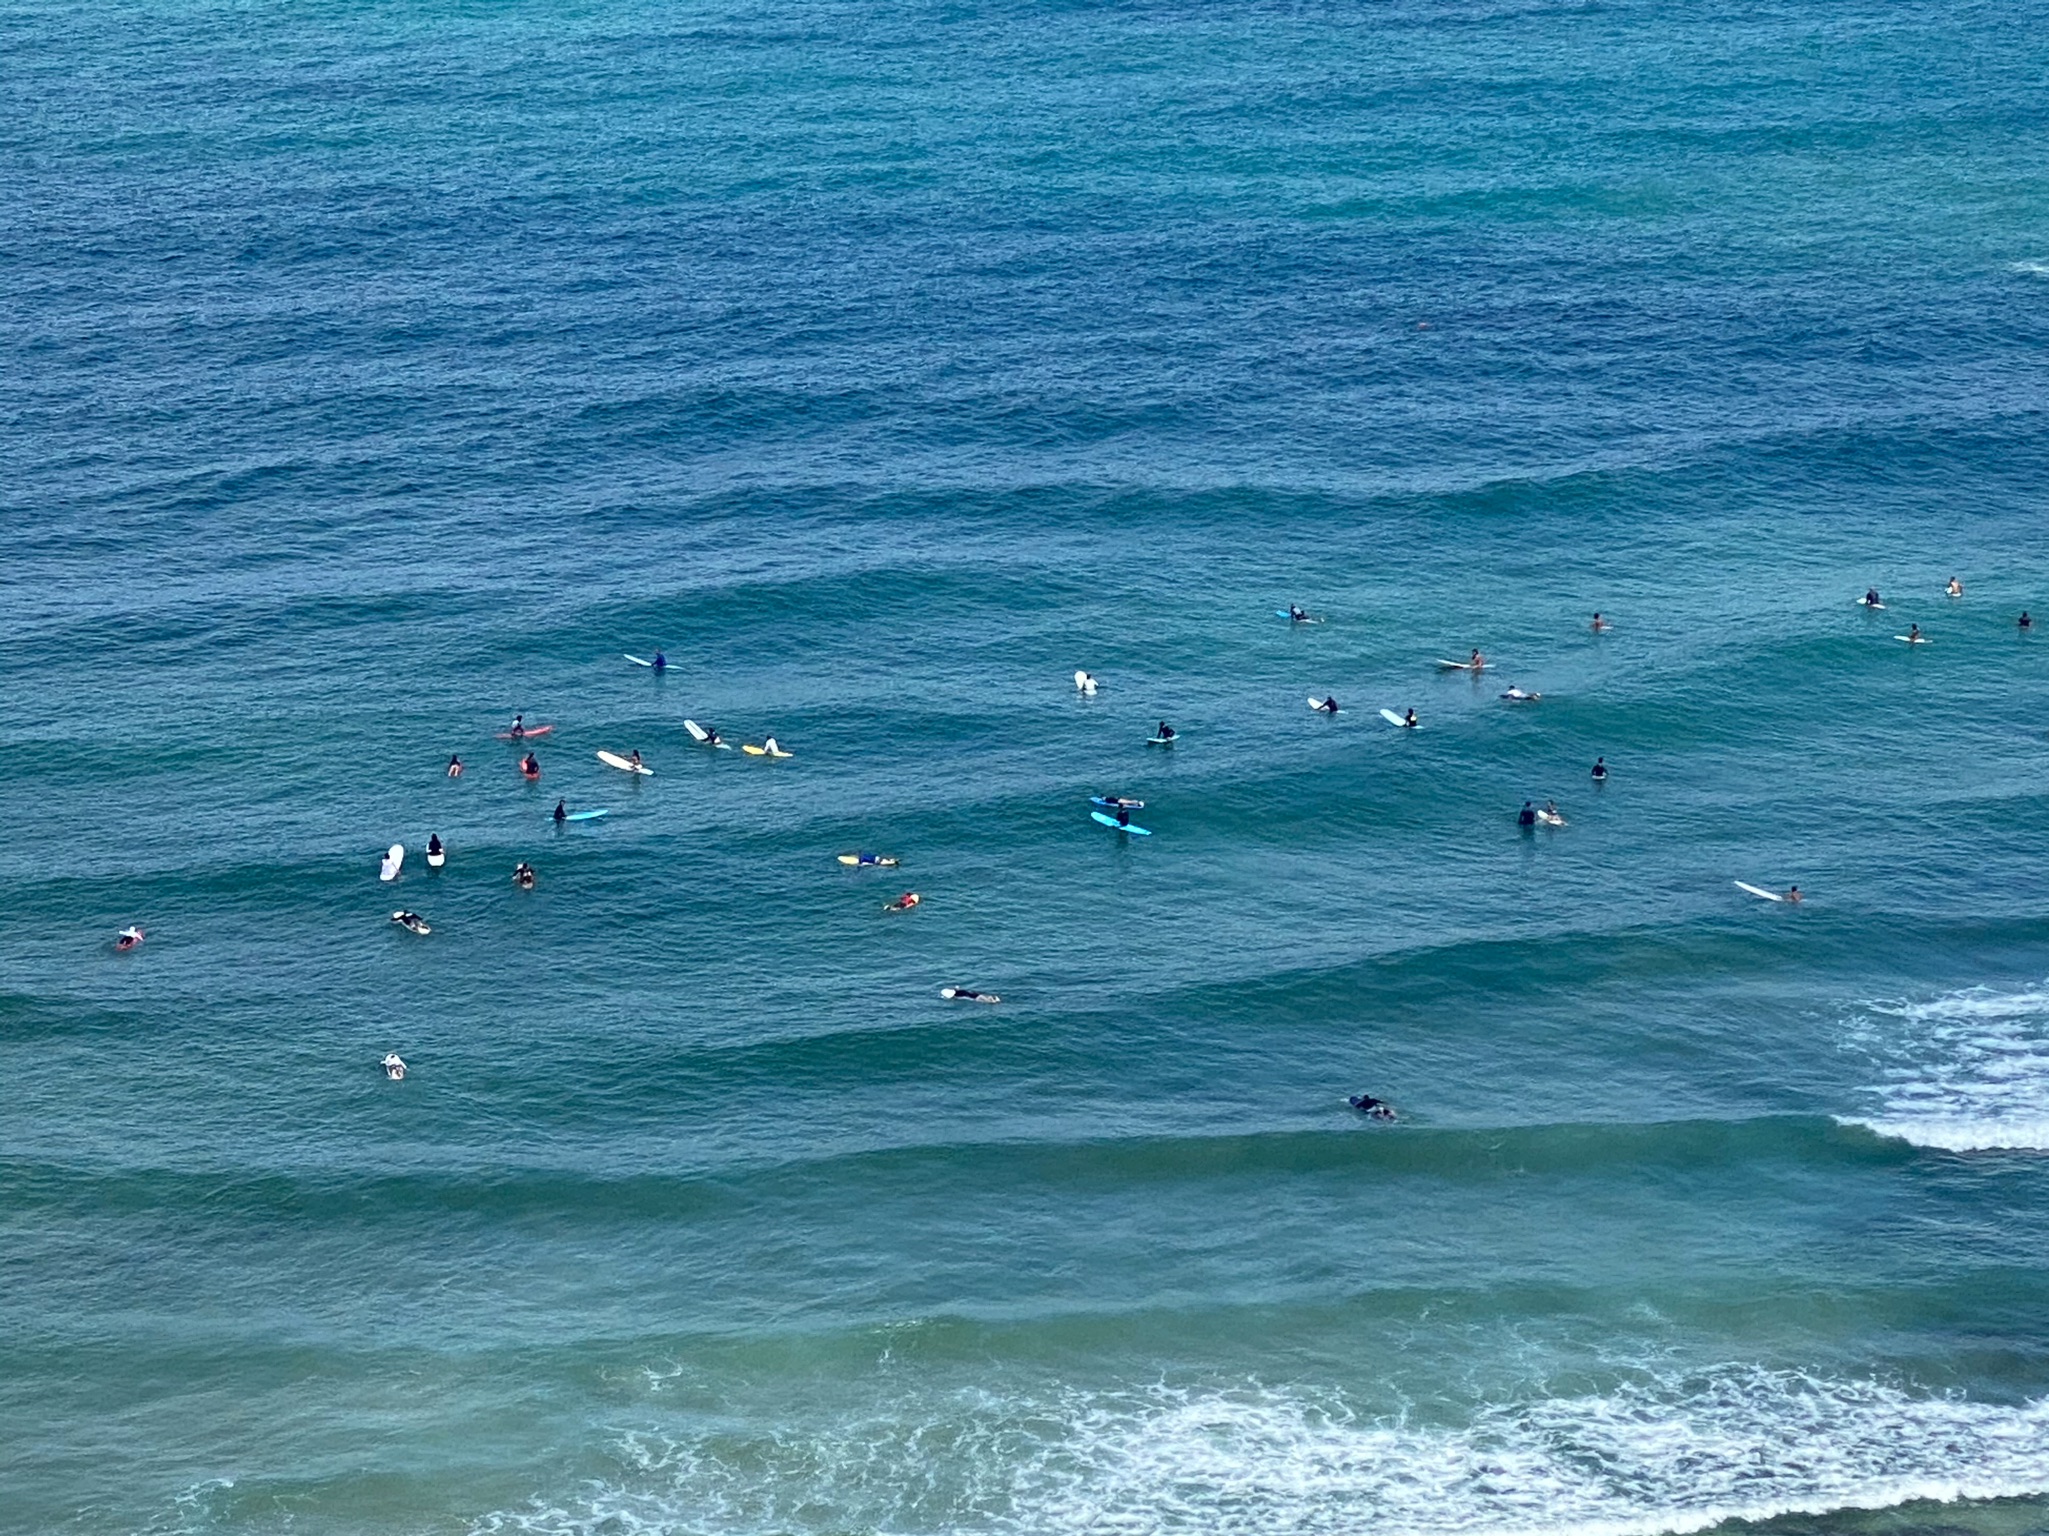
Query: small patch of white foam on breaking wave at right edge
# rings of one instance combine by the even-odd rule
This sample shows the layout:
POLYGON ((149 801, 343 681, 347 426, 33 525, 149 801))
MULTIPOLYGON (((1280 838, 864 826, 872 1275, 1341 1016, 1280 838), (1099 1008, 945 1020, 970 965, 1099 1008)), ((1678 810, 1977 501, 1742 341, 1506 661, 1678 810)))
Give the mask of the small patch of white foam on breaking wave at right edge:
POLYGON ((1871 1006, 1850 1047, 1877 1081, 1844 1120, 1947 1151, 2049 1149, 2049 989, 1871 1006))

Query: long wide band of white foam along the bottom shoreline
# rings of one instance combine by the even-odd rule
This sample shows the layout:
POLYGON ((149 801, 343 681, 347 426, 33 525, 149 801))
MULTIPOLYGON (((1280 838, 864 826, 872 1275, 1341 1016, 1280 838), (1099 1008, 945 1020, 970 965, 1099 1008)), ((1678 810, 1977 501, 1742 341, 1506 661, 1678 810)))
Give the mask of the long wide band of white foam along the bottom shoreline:
POLYGON ((625 1436, 617 1477, 479 1532, 1654 1536, 1723 1520, 2049 1491, 2049 1405, 1748 1366, 1492 1407, 1336 1395, 961 1395, 826 1432, 625 1436))

